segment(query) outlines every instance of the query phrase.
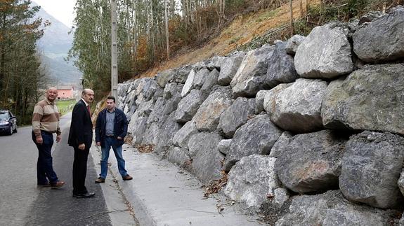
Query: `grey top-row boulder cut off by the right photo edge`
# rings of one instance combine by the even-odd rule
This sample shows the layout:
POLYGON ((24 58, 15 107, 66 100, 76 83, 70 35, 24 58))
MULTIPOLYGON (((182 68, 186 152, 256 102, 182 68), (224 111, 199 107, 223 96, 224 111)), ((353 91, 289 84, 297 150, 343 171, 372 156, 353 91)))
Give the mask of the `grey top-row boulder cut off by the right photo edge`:
POLYGON ((403 58, 403 34, 404 8, 400 7, 356 29, 353 51, 359 59, 370 63, 403 58))

